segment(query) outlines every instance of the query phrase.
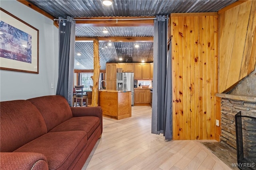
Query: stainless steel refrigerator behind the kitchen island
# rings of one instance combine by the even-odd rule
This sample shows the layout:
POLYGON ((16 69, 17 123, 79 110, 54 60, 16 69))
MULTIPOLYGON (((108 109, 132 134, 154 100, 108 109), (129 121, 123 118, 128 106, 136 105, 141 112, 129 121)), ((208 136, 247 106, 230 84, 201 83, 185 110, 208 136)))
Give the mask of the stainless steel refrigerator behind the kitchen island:
POLYGON ((134 106, 134 73, 117 72, 116 73, 116 90, 131 91, 132 106, 134 106))

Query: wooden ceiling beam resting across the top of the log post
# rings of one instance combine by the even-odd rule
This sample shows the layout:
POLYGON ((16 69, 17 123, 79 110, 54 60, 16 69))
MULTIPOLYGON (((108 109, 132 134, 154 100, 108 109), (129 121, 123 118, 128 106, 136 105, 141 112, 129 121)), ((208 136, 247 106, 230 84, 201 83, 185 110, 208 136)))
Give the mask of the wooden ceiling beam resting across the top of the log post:
POLYGON ((154 37, 76 37, 76 42, 94 41, 112 41, 112 42, 153 42, 154 37))

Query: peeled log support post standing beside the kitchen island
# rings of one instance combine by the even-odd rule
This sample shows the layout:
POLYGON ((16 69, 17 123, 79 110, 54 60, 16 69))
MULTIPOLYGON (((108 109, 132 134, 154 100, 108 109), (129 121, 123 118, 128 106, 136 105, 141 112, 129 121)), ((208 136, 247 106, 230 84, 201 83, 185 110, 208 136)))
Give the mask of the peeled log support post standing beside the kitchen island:
POLYGON ((94 72, 92 76, 93 87, 92 87, 92 104, 91 106, 98 106, 99 96, 99 79, 100 79, 100 56, 99 56, 99 40, 94 39, 93 41, 93 58, 94 58, 94 72))

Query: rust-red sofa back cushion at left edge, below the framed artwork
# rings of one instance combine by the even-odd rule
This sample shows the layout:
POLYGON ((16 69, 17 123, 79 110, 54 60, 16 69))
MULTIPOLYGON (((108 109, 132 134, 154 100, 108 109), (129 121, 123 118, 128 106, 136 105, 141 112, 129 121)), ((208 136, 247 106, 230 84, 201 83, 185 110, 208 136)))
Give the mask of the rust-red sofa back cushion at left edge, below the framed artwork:
POLYGON ((40 111, 29 101, 0 102, 0 151, 12 152, 47 133, 40 111))

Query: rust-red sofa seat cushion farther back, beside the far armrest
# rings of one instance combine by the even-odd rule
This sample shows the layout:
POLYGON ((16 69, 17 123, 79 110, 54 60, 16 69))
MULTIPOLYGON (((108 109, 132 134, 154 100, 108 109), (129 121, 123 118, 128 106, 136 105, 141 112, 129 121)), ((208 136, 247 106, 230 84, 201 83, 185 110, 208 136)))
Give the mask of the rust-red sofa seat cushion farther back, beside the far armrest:
POLYGON ((92 135, 95 129, 100 125, 100 118, 95 116, 72 117, 61 123, 50 132, 60 131, 86 131, 87 138, 92 135))

